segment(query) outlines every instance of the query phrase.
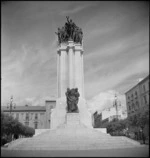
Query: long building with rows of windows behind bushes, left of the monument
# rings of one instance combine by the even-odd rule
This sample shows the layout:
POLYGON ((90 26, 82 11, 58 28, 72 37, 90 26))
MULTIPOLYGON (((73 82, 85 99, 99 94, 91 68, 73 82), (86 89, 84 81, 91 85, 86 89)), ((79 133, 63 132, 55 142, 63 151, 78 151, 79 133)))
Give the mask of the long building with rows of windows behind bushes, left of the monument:
POLYGON ((51 111, 55 106, 56 100, 47 100, 45 106, 16 106, 11 111, 10 107, 2 106, 1 110, 26 126, 35 129, 49 129, 51 128, 51 111))

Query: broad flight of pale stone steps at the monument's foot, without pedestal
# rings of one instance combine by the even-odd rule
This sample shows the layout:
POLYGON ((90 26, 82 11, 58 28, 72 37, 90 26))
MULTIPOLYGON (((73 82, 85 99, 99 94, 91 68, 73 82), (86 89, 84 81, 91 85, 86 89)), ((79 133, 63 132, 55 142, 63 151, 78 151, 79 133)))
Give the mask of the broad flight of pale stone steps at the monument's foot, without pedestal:
POLYGON ((14 143, 11 148, 23 150, 62 150, 136 147, 133 143, 123 140, 122 137, 112 137, 100 132, 89 133, 58 134, 56 131, 47 131, 35 137, 27 138, 26 141, 22 141, 19 145, 14 143))

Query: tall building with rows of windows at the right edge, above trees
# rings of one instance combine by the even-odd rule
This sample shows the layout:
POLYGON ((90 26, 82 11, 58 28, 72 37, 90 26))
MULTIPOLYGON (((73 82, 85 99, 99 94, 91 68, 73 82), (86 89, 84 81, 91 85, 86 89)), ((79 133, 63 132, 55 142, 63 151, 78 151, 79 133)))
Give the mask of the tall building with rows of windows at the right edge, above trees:
POLYGON ((127 114, 134 115, 139 109, 149 108, 149 75, 125 93, 127 114))

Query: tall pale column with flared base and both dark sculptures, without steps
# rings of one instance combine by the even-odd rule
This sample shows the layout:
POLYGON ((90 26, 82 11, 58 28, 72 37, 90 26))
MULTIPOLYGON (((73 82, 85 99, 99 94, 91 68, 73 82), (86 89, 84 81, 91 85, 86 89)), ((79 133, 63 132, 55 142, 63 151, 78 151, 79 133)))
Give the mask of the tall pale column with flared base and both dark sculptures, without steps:
POLYGON ((58 95, 56 108, 51 114, 51 128, 65 124, 68 113, 72 113, 70 117, 78 113, 80 122, 92 128, 92 116, 84 98, 83 32, 72 19, 66 18, 65 25, 55 32, 58 36, 58 95))

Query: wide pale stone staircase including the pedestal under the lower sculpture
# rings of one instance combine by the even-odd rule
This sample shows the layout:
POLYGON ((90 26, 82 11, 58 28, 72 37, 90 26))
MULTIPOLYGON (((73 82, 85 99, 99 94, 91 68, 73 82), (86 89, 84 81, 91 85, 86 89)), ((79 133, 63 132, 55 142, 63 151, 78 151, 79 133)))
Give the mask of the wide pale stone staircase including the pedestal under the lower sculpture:
POLYGON ((77 114, 69 114, 66 123, 32 138, 24 138, 8 146, 11 150, 87 150, 140 147, 138 142, 122 136, 87 128, 77 114))

